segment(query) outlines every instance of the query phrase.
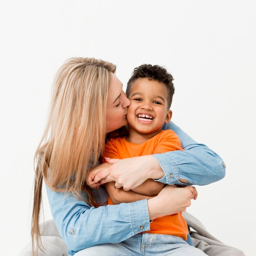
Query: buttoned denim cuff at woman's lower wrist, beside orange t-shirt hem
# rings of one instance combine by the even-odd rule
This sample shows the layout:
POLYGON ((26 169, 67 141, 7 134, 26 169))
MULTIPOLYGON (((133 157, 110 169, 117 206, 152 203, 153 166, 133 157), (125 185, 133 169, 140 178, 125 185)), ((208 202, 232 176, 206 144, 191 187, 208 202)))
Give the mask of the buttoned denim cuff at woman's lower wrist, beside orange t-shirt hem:
POLYGON ((130 213, 134 234, 150 230, 147 200, 130 203, 130 213))

